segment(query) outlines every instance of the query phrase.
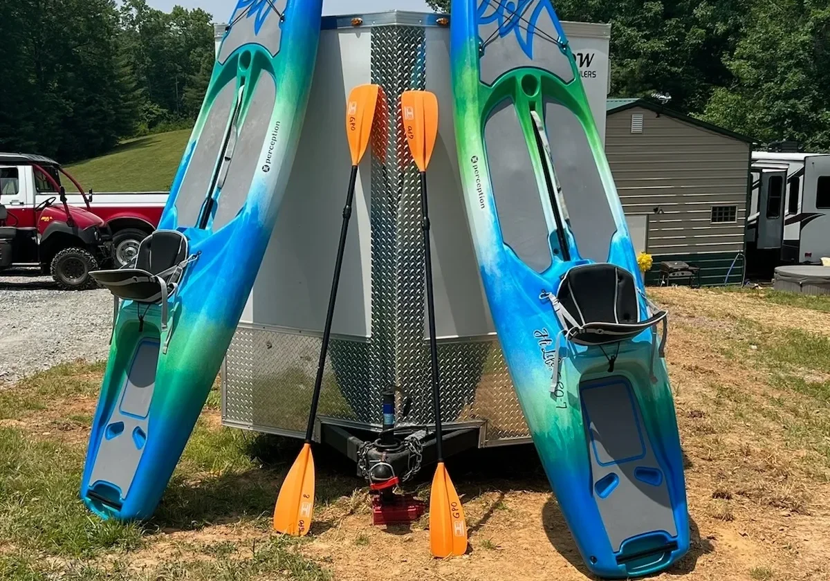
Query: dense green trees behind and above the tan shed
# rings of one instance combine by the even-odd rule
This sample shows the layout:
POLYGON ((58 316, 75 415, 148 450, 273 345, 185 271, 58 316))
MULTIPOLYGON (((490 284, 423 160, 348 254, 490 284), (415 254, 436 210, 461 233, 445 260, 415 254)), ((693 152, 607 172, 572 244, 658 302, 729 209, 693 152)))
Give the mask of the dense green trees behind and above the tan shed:
MULTIPOLYGON (((450 0, 427 2, 449 11, 450 0)), ((553 3, 562 20, 612 24, 611 96, 668 94, 671 109, 762 144, 830 150, 826 0, 553 3)))

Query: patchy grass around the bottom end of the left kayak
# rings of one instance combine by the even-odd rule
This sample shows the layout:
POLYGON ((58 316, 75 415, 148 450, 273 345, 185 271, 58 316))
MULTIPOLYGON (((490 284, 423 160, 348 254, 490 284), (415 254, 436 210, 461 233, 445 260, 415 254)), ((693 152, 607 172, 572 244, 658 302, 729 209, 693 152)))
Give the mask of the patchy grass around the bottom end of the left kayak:
MULTIPOLYGON (((54 413, 79 395, 95 395, 103 369, 103 364, 61 364, 4 388, 2 416, 19 417, 25 426, 38 410, 54 413)), ((86 413, 67 413, 54 422, 74 422, 80 428, 90 419, 86 413)), ((153 519, 124 524, 95 517, 78 496, 85 445, 50 441, 40 430, 30 433, 17 425, 0 427, 0 579, 330 579, 296 550, 304 540, 270 534, 280 473, 288 459, 277 466, 279 472, 263 466, 259 456, 270 447, 262 438, 200 418, 153 519), (159 556, 142 569, 130 565, 138 551, 148 561, 154 543, 164 539, 162 531, 198 532, 223 522, 248 525, 256 537, 185 542, 183 553, 159 556)), ((342 491, 343 486, 321 487, 319 504, 342 491)))

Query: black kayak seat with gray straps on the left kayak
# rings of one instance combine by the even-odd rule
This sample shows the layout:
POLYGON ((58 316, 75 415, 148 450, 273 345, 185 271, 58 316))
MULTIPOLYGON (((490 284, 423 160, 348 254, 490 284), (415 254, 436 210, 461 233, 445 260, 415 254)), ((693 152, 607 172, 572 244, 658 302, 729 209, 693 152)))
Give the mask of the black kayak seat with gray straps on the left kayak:
MULTIPOLYGON (((178 290, 188 263, 197 257, 198 254, 188 255, 188 238, 182 232, 157 230, 141 241, 133 260, 124 266, 91 271, 90 276, 113 294, 113 330, 119 300, 161 305, 161 328, 167 330, 168 299, 178 290)), ((167 353, 167 342, 164 353, 167 353)))

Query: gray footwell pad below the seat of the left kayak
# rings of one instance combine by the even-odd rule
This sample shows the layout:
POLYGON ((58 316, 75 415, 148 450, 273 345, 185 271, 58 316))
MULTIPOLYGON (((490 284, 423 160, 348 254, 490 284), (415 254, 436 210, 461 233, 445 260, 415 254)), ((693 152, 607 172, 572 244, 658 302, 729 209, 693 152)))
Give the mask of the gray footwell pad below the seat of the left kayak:
POLYGON ((103 482, 117 486, 122 498, 129 494, 147 442, 148 414, 158 363, 159 341, 143 339, 135 349, 124 388, 116 400, 118 404, 104 428, 92 466, 90 487, 103 482))

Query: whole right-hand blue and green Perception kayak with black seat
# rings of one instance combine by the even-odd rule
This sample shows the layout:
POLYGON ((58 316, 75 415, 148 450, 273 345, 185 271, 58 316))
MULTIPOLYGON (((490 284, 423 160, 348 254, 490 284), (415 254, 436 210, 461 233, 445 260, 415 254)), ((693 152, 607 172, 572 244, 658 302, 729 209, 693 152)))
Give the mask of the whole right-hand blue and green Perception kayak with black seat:
POLYGON ((565 520, 594 574, 666 569, 689 548, 666 313, 553 5, 453 0, 451 67, 481 278, 565 520))

